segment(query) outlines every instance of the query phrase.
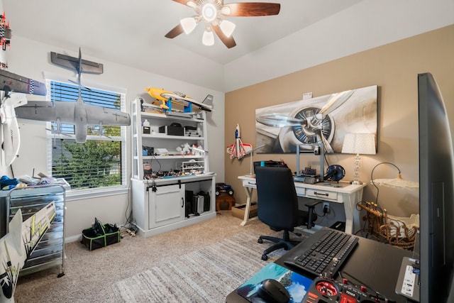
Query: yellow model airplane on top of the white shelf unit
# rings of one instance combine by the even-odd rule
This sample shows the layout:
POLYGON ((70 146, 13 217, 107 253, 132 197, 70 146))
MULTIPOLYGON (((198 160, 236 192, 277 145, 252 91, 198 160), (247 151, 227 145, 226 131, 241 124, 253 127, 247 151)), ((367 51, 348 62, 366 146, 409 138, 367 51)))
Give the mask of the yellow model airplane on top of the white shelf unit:
POLYGON ((184 106, 184 112, 192 111, 192 105, 202 109, 204 111, 212 111, 213 106, 209 104, 205 104, 205 102, 213 101, 213 96, 211 94, 207 95, 204 101, 199 102, 191 97, 187 96, 186 94, 182 94, 179 92, 169 92, 165 89, 157 89, 155 87, 147 87, 145 88, 145 92, 156 99, 156 101, 161 101, 160 107, 166 110, 172 110, 172 103, 179 104, 184 106))

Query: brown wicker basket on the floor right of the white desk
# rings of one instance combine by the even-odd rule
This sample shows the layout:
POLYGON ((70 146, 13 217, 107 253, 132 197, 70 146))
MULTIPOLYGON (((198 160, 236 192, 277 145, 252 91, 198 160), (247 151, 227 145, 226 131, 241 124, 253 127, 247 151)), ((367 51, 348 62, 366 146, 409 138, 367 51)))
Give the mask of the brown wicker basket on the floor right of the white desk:
POLYGON ((416 233, 419 229, 417 215, 410 217, 416 219, 417 224, 406 224, 405 221, 408 220, 388 215, 386 209, 381 210, 377 204, 372 202, 360 202, 358 206, 367 212, 366 221, 369 233, 392 246, 413 250, 416 233))

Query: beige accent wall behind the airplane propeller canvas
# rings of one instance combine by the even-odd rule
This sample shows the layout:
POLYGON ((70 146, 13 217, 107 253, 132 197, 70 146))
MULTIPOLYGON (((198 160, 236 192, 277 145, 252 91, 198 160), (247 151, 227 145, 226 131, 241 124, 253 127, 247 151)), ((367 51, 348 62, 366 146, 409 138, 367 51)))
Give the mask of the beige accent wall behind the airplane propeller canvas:
MULTIPOLYGON (((436 78, 450 120, 454 121, 453 54, 454 26, 448 26, 228 92, 226 145, 233 143, 236 123, 239 123, 243 143, 252 143, 255 147, 257 108, 300 100, 304 92, 312 92, 314 97, 318 97, 378 85, 378 153, 363 156, 360 171, 360 180, 368 183, 363 199, 375 201, 377 191, 369 184, 370 173, 380 162, 397 165, 404 179, 419 180, 418 73, 431 72, 436 78)), ((454 122, 451 123, 454 133, 453 126, 454 122)), ((292 170, 296 170, 296 157, 293 154, 255 154, 253 160, 284 160, 292 170)), ((306 163, 302 161, 301 167, 304 167, 306 163)), ((342 165, 346 171, 345 179, 353 179, 353 155, 329 154, 328 162, 342 165)), ((249 157, 243 160, 226 157, 225 170, 226 182, 233 185, 236 191, 237 204, 245 203, 245 192, 237 177, 249 173, 249 157)), ((374 179, 396 175, 391 165, 380 165, 374 172, 374 179)), ((417 190, 380 187, 378 202, 396 216, 409 216, 419 209, 417 190)))

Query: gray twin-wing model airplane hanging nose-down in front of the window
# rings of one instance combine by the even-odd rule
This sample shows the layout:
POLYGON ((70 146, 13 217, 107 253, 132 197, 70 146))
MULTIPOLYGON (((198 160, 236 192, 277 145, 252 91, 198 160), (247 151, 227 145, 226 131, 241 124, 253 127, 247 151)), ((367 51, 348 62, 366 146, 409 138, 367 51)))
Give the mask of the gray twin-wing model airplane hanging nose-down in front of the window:
POLYGON ((102 64, 82 60, 80 48, 78 58, 50 53, 50 60, 56 65, 76 70, 77 84, 79 85, 79 97, 77 98, 77 101, 56 101, 53 104, 52 102, 29 101, 28 104, 16 109, 18 118, 54 121, 57 123, 57 133, 60 133, 61 123, 73 124, 77 143, 84 143, 87 141, 87 126, 89 125, 101 126, 101 128, 102 126, 109 125, 131 125, 129 114, 101 106, 86 104, 82 99, 80 75, 82 72, 102 74, 102 64))

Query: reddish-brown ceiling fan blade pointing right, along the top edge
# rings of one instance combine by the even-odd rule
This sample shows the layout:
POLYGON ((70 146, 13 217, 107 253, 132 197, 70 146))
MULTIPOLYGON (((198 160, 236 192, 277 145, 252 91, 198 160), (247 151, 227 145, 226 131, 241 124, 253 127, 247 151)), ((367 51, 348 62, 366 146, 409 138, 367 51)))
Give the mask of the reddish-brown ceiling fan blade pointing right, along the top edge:
POLYGON ((245 2, 224 4, 223 8, 230 9, 230 12, 223 13, 226 16, 255 17, 277 15, 281 5, 267 2, 245 2))

